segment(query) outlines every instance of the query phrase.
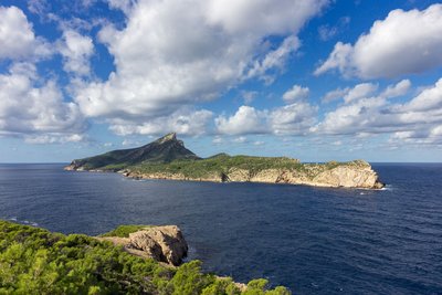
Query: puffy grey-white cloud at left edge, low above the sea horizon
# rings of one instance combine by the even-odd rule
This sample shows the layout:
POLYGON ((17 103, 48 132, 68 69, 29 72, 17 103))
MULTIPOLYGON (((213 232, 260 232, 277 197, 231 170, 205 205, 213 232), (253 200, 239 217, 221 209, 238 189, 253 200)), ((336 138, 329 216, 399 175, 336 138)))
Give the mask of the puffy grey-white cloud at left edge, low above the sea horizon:
POLYGON ((0 135, 32 143, 77 141, 85 122, 76 104, 64 102, 55 82, 41 84, 32 64, 0 74, 0 135))

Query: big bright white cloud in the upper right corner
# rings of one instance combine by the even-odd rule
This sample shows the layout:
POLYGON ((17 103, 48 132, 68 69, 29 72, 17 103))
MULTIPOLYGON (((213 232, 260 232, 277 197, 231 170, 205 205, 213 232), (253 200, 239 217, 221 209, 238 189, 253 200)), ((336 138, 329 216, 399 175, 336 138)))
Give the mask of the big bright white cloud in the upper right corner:
POLYGON ((422 11, 397 9, 354 45, 336 43, 315 74, 338 70, 345 76, 376 78, 421 73, 442 65, 441 48, 442 4, 422 11))

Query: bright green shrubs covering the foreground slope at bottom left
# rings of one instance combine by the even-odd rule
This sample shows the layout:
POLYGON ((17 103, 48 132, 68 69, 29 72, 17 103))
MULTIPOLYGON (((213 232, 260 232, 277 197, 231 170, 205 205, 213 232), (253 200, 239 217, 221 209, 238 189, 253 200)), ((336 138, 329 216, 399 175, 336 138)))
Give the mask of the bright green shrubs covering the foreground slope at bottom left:
POLYGON ((240 288, 229 277, 202 273, 199 261, 172 268, 84 234, 0 221, 0 294, 290 294, 266 286, 254 280, 240 288))

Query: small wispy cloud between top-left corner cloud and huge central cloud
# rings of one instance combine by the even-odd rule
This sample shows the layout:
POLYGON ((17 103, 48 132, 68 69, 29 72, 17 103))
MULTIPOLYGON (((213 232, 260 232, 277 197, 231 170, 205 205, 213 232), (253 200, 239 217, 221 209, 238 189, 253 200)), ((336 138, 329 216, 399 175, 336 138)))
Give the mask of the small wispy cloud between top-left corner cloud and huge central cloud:
POLYGON ((76 75, 90 75, 90 57, 94 53, 94 44, 90 36, 80 34, 73 30, 63 32, 59 51, 64 57, 63 70, 76 75))

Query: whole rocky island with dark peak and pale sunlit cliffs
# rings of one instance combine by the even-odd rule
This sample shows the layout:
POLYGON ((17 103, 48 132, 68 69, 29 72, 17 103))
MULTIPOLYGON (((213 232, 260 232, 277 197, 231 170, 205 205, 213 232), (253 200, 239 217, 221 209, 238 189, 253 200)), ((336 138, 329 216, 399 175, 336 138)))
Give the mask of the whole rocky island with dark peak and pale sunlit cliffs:
POLYGON ((288 157, 228 154, 201 158, 187 149, 175 133, 138 148, 76 159, 64 169, 113 171, 135 179, 266 182, 360 189, 385 187, 377 172, 365 160, 304 164, 288 157))

